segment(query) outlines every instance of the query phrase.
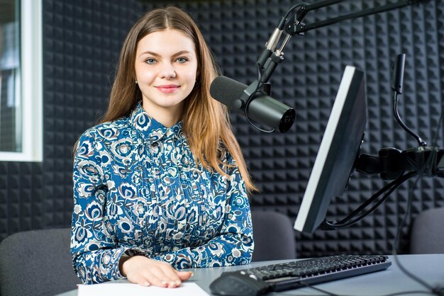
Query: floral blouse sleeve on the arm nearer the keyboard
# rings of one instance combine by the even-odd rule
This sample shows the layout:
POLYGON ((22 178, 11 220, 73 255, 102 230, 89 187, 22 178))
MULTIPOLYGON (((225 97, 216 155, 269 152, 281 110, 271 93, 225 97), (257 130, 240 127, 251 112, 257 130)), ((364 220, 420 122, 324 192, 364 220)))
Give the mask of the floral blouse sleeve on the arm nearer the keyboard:
POLYGON ((155 259, 166 261, 174 268, 196 268, 248 264, 254 243, 250 205, 243 179, 237 168, 227 180, 226 208, 220 232, 206 244, 196 248, 171 251, 155 259))

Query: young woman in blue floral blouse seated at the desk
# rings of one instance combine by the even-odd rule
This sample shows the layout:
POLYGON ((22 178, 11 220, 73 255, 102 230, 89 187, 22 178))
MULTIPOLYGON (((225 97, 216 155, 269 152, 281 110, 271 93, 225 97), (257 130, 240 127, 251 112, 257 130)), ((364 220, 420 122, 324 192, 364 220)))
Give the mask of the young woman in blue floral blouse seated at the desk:
POLYGON ((109 108, 74 157, 71 251, 84 283, 174 288, 182 268, 250 262, 255 190, 187 13, 150 11, 123 44, 109 108))

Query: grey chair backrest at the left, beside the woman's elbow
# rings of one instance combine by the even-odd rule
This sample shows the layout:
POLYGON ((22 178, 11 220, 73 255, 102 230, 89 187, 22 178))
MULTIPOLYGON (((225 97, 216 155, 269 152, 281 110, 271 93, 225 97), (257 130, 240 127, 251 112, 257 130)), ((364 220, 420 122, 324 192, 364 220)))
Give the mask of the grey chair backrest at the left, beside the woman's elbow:
POLYGON ((57 295, 81 283, 72 268, 70 228, 18 232, 0 243, 0 295, 57 295))

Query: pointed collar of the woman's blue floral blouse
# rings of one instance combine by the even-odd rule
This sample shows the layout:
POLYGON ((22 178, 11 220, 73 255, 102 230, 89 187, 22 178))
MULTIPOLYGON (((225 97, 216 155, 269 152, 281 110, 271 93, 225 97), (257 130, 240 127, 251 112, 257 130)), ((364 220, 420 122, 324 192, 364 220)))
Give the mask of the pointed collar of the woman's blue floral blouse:
POLYGON ((170 128, 165 127, 165 125, 162 125, 162 123, 150 117, 143 109, 141 103, 138 103, 138 106, 131 113, 130 123, 138 130, 140 135, 142 135, 143 140, 150 143, 157 142, 164 136, 181 137, 182 135, 182 121, 179 121, 179 123, 170 128))

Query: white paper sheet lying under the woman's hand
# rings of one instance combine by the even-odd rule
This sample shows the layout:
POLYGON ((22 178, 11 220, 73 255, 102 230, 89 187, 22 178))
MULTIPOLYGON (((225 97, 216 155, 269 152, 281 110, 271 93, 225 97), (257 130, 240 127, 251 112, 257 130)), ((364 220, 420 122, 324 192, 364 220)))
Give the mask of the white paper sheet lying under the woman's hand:
POLYGON ((178 288, 143 287, 132 283, 101 283, 94 285, 78 285, 78 296, 122 296, 122 295, 155 295, 155 296, 209 296, 196 283, 182 283, 178 288))

